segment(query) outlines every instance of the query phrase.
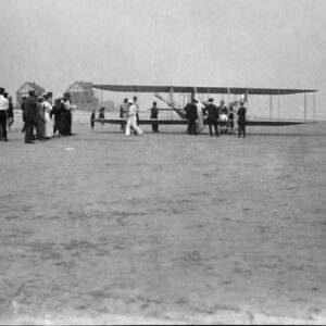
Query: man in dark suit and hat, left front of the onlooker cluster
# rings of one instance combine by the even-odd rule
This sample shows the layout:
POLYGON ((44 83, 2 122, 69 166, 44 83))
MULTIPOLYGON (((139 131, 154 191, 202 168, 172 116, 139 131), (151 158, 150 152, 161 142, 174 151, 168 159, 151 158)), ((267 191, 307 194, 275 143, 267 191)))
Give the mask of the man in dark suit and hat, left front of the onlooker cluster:
POLYGON ((35 91, 29 90, 29 97, 24 102, 23 121, 25 123, 25 143, 34 143, 34 126, 36 125, 36 108, 35 91))

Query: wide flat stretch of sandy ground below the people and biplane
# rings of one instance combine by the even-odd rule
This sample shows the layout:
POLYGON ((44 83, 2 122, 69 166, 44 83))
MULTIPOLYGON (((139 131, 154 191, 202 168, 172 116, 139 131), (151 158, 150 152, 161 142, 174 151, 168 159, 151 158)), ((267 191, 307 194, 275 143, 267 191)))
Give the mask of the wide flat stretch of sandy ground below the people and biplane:
POLYGON ((1 324, 326 323, 326 123, 126 138, 76 113, 34 146, 14 127, 1 324))

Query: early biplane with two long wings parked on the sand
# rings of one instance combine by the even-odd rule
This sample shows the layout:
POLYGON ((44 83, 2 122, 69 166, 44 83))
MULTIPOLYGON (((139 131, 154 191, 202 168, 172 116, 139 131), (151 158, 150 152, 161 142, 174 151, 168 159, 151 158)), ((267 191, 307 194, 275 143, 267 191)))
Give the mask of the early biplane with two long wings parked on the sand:
MULTIPOLYGON (((247 110, 249 109, 249 96, 269 96, 271 97, 271 117, 272 117, 272 97, 278 97, 278 110, 279 110, 279 97, 287 95, 304 93, 304 117, 306 115, 306 93, 315 93, 315 89, 288 89, 288 88, 248 88, 248 87, 189 87, 189 86, 140 86, 140 85, 92 85, 92 88, 100 90, 108 90, 112 92, 128 92, 137 95, 139 92, 153 93, 155 98, 167 104, 167 109, 162 109, 164 111, 173 111, 178 115, 178 118, 140 118, 138 123, 140 125, 151 125, 158 123, 159 125, 187 125, 188 121, 186 118, 186 112, 184 110, 186 101, 189 102, 192 99, 198 100, 199 104, 203 106, 203 96, 208 98, 214 95, 233 96, 234 99, 228 104, 237 108, 241 103, 246 103, 247 110), (161 93, 166 93, 166 99, 161 96, 161 93), (174 95, 179 93, 184 96, 184 103, 176 102, 174 95)), ((197 123, 198 131, 204 128, 204 116, 199 108, 199 118, 197 123)), ((314 97, 315 106, 315 97, 314 97)), ((315 112, 315 108, 314 108, 315 112)), ((124 118, 96 118, 95 122, 108 123, 108 124, 118 124, 125 122, 124 118)), ((294 124, 308 123, 304 121, 280 121, 280 120, 247 120, 248 126, 287 126, 294 124)))

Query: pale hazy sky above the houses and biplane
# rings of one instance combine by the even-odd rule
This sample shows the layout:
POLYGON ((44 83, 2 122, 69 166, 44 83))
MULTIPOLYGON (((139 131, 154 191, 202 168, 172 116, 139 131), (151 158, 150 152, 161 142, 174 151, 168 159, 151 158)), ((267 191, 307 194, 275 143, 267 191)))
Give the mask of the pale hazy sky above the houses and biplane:
MULTIPOLYGON (((0 0, 0 84, 319 89, 326 1, 0 0)), ((123 96, 120 96, 123 97, 123 96)), ((319 110, 322 110, 319 108, 319 110)))

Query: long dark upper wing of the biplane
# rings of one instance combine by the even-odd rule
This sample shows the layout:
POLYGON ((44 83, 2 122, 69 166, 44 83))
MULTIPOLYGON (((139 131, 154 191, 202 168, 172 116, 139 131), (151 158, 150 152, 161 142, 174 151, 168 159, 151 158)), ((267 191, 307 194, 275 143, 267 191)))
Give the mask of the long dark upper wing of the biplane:
POLYGON ((146 85, 92 85, 93 88, 123 91, 123 92, 193 92, 199 93, 231 93, 231 95, 293 95, 304 92, 315 92, 315 89, 293 89, 293 88, 252 88, 252 87, 196 87, 196 86, 146 86, 146 85))

